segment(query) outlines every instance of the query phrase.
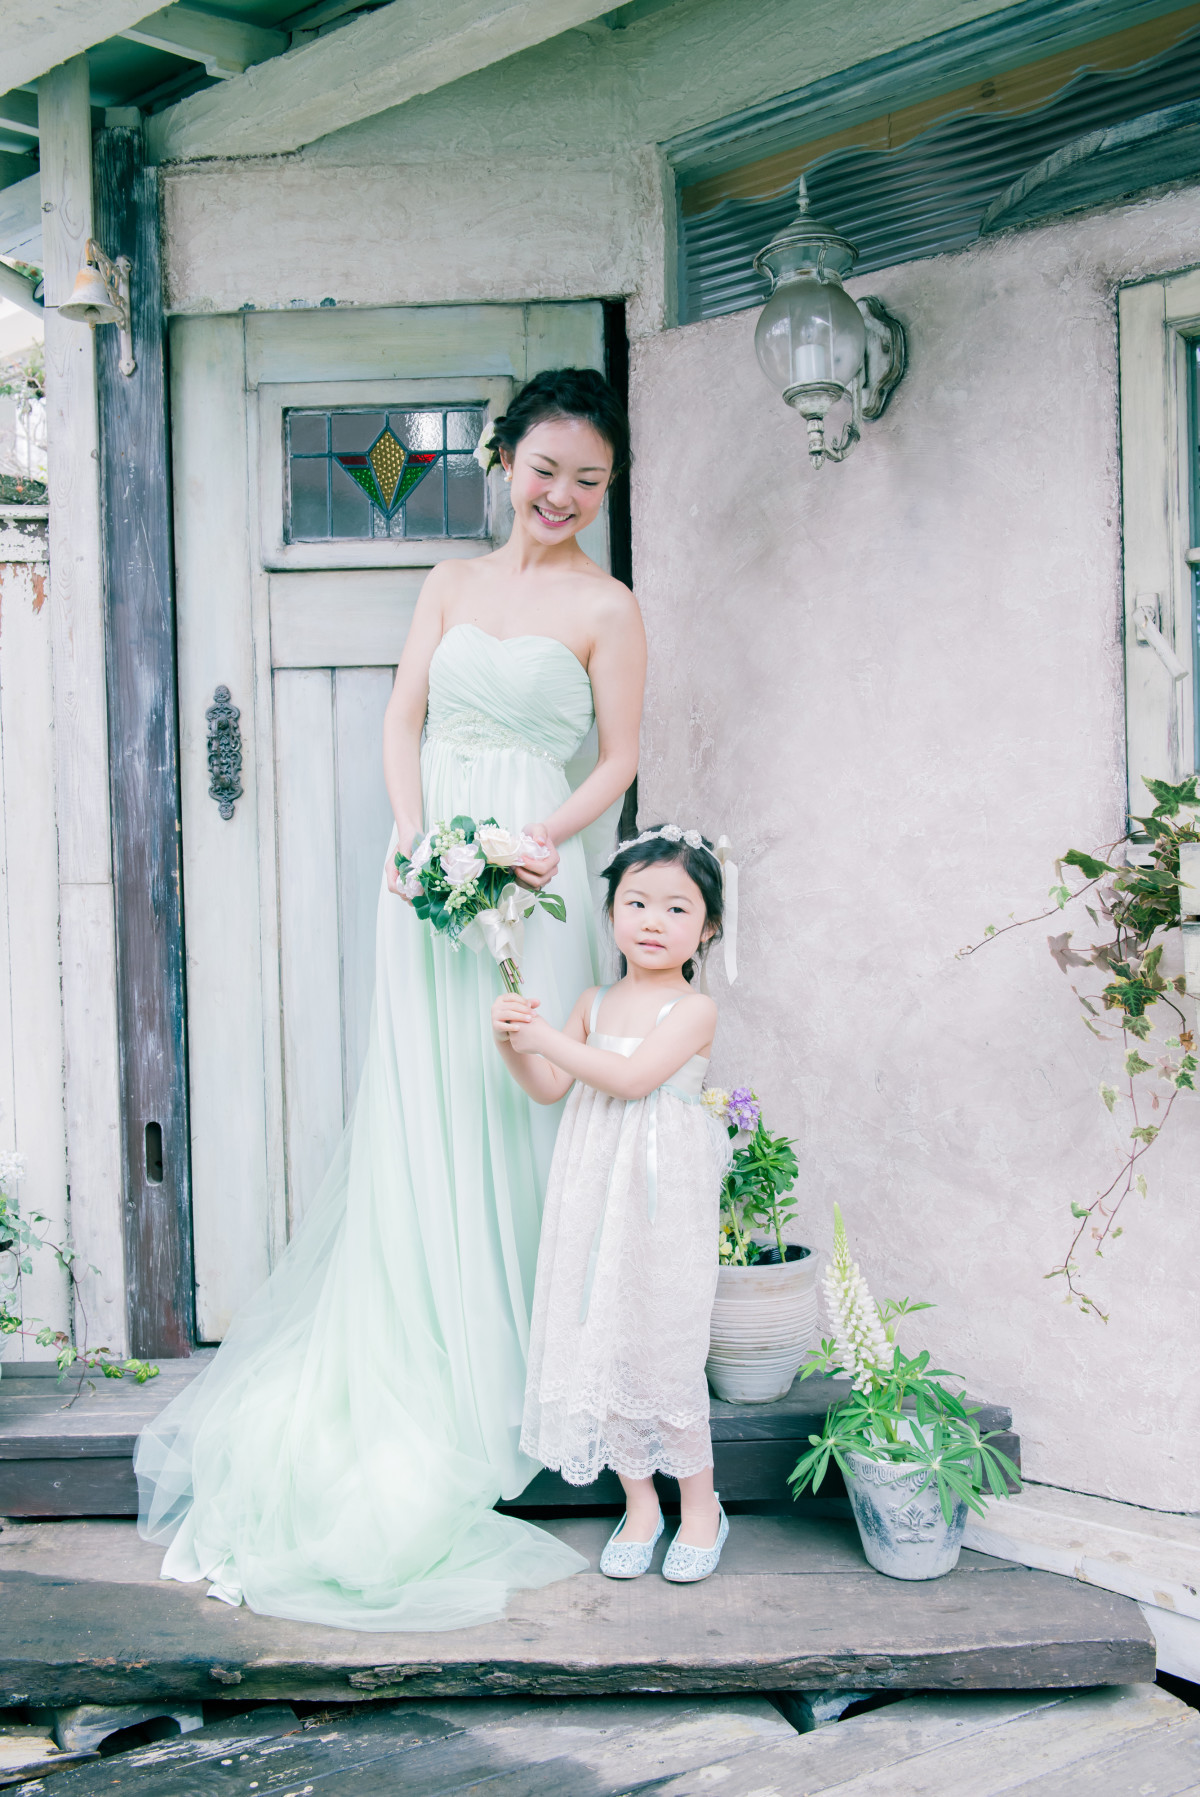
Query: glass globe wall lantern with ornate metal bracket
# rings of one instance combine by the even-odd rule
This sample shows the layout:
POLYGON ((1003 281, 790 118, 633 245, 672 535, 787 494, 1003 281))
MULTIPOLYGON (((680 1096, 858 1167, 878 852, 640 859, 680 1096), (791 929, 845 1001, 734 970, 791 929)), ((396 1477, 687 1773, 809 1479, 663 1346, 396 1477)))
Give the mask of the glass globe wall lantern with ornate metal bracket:
POLYGON ((814 467, 850 455, 862 419, 882 417, 904 374, 904 325, 880 300, 851 300, 843 288, 857 261, 846 237, 812 217, 801 174, 799 212, 754 257, 758 273, 771 275, 754 350, 771 385, 807 419, 814 467), (850 399, 850 422, 830 442, 825 415, 839 399, 850 399))

